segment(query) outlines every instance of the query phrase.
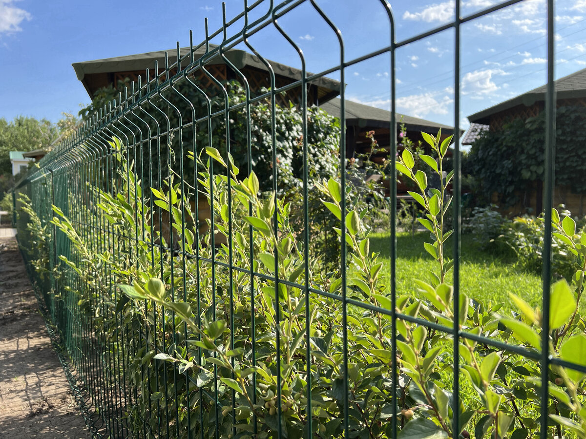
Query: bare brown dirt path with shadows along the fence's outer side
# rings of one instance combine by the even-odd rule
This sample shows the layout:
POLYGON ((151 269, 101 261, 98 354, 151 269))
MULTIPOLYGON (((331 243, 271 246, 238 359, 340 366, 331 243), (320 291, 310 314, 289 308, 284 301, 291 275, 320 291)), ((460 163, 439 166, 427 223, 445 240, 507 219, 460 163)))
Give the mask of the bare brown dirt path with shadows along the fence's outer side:
POLYGON ((88 437, 16 239, 0 238, 0 439, 88 437))

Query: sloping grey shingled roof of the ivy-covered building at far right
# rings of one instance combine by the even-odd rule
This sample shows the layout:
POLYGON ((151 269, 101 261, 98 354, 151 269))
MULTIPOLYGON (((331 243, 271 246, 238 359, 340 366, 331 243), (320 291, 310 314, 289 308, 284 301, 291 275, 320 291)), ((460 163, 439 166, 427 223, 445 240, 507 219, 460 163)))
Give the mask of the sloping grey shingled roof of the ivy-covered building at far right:
MULTIPOLYGON (((554 87, 556 88, 556 99, 586 97, 586 68, 554 81, 554 87)), ((500 104, 496 104, 493 107, 469 115, 468 120, 478 124, 488 124, 489 118, 493 114, 516 107, 517 105, 523 104, 530 107, 535 102, 544 101, 546 91, 547 84, 541 85, 541 87, 534 88, 508 101, 500 102, 500 104)))

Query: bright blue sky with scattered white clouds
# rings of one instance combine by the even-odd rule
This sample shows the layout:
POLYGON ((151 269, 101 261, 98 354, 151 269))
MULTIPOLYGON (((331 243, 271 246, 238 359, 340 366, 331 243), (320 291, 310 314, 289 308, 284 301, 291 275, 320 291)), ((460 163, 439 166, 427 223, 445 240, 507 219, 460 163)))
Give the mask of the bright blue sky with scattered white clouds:
MULTIPOLYGON (((265 2, 267 3, 267 2, 265 2)), ((342 31, 345 59, 389 44, 389 19, 379 0, 318 0, 342 31)), ((398 41, 434 29, 454 18, 454 0, 393 1, 398 41)), ((495 4, 463 0, 462 15, 495 4)), ((228 18, 243 0, 227 0, 228 18)), ((264 4, 251 15, 264 12, 264 4)), ((71 63, 172 49, 179 40, 204 37, 222 25, 222 2, 79 2, 0 0, 0 117, 35 116, 57 121, 62 111, 77 113, 89 102, 71 63)), ((321 16, 305 2, 278 21, 302 48, 308 71, 339 63, 338 40, 321 16)), ((237 32, 241 22, 229 29, 237 32)), ((462 26, 461 120, 466 115, 542 85, 546 81, 546 6, 526 0, 462 26)), ((299 67, 297 53, 269 26, 251 36, 268 59, 299 67)), ((397 51, 397 109, 447 125, 454 124, 454 32, 452 29, 397 51)), ((556 77, 586 68, 586 0, 556 1, 556 77)), ((389 56, 349 66, 346 97, 390 108, 389 56)), ((330 75, 339 78, 339 74, 330 75)))

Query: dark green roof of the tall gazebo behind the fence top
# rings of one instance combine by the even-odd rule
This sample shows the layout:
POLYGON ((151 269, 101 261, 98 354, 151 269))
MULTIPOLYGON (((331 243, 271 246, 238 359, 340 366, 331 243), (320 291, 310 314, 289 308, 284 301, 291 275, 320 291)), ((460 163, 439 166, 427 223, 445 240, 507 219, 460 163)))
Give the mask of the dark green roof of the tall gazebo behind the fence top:
MULTIPOLYGON (((210 44, 210 50, 213 51, 216 49, 216 47, 216 44, 210 44)), ((189 54, 189 51, 189 47, 182 47, 179 49, 179 56, 183 58, 189 54)), ((73 69, 75 70, 77 79, 83 83, 88 94, 90 97, 92 97, 91 91, 88 88, 88 84, 86 81, 84 81, 88 74, 144 71, 147 70, 147 68, 154 69, 155 61, 158 61, 159 68, 161 68, 165 66, 165 53, 168 53, 169 65, 172 65, 177 61, 177 49, 171 49, 105 58, 101 60, 83 61, 81 63, 73 63, 71 66, 73 66, 73 69)), ((195 49, 193 51, 193 59, 197 61, 205 54, 205 47, 195 49)), ((238 69, 243 67, 253 67, 268 72, 267 66, 265 66, 260 58, 254 54, 240 49, 228 49, 224 51, 224 54, 230 63, 234 64, 234 67, 238 69)), ((285 66, 285 64, 276 63, 275 61, 271 60, 267 61, 271 65, 272 70, 276 75, 288 77, 293 80, 299 80, 301 78, 301 70, 298 68, 285 66)), ((187 66, 187 63, 188 61, 183 61, 184 66, 187 66)), ((220 57, 219 53, 216 52, 210 59, 205 61, 205 65, 209 64, 224 64, 224 61, 222 57, 220 57)), ((308 73, 308 75, 311 75, 311 73, 308 73)), ((322 89, 319 90, 319 99, 321 101, 325 99, 331 99, 340 92, 339 81, 327 77, 316 78, 311 81, 311 84, 316 85, 318 88, 322 89)))

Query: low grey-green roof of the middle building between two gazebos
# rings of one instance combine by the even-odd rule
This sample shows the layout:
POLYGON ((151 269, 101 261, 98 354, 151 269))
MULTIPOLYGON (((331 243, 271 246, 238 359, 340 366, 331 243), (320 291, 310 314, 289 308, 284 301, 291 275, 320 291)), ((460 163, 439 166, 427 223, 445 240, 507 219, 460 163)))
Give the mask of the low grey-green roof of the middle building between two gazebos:
MULTIPOLYGON (((320 104, 319 107, 331 114, 332 116, 340 117, 342 100, 340 98, 332 99, 331 101, 320 104)), ((379 126, 380 128, 388 128, 391 121, 391 112, 382 108, 370 107, 370 105, 358 104, 357 102, 345 101, 344 114, 346 116, 347 125, 356 126, 379 126)), ((453 126, 438 124, 437 122, 425 121, 424 119, 414 118, 404 114, 396 113, 397 124, 403 122, 407 129, 413 131, 427 131, 433 128, 434 131, 438 129, 444 130, 445 133, 451 134, 454 132, 453 126)))

